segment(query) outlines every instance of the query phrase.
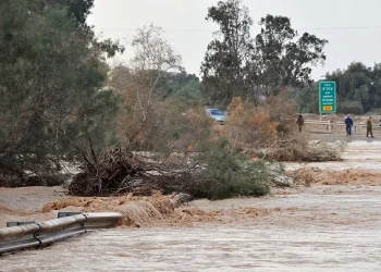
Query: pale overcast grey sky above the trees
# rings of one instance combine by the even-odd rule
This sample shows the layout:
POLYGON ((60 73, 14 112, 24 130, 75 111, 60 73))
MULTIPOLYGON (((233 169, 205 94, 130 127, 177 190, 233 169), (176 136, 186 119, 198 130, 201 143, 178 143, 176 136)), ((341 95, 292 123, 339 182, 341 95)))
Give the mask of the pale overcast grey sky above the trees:
MULTIPOLYGON (((153 23, 165 30, 164 37, 183 57, 188 73, 199 74, 208 42, 217 26, 205 20, 217 0, 95 0, 89 24, 102 37, 120 39, 134 36, 135 29, 153 23)), ((381 62, 381 0, 243 0, 254 20, 251 35, 259 32, 258 21, 267 14, 288 16, 300 34, 308 32, 329 40, 325 65, 315 67, 312 77, 352 61, 367 65, 381 62)), ((127 48, 125 61, 131 57, 127 48)))

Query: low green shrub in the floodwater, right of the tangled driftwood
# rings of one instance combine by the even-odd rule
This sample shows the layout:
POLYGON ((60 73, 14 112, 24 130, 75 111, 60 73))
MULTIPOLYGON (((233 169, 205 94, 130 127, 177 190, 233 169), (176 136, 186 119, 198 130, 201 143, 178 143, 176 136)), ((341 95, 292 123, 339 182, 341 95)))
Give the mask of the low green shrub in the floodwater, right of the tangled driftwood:
POLYGON ((270 193, 270 182, 275 172, 263 161, 234 154, 223 146, 206 150, 201 161, 204 168, 198 182, 187 188, 195 198, 216 200, 270 193))

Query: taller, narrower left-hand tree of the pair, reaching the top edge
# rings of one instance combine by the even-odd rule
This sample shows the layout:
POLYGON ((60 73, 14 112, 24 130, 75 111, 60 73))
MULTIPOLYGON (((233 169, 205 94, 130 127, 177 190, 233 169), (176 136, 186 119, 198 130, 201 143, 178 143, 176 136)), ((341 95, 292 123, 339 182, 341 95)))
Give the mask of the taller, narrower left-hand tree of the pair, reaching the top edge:
POLYGON ((241 0, 219 1, 206 20, 219 25, 201 64, 202 87, 212 103, 228 106, 233 97, 257 100, 254 92, 250 26, 253 20, 241 0))

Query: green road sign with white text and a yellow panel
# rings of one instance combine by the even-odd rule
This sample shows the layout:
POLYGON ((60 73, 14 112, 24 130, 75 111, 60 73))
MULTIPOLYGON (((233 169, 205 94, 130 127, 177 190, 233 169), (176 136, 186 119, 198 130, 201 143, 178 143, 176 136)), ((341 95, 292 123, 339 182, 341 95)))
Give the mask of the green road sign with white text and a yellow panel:
POLYGON ((335 82, 319 82, 319 111, 320 113, 336 112, 335 82))

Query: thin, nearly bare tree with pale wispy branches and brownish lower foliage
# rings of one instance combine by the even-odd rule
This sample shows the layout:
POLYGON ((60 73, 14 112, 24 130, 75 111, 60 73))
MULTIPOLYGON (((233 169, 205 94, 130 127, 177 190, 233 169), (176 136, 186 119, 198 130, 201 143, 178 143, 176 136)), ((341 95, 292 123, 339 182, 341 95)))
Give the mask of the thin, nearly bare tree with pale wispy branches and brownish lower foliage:
POLYGON ((123 97, 119 134, 130 149, 147 150, 155 149, 152 145, 165 146, 150 139, 152 135, 162 133, 158 128, 176 110, 174 106, 168 107, 161 88, 165 73, 182 70, 182 59, 162 35, 162 29, 153 25, 138 29, 132 40, 134 57, 127 66, 118 66, 112 73, 110 84, 123 97))

